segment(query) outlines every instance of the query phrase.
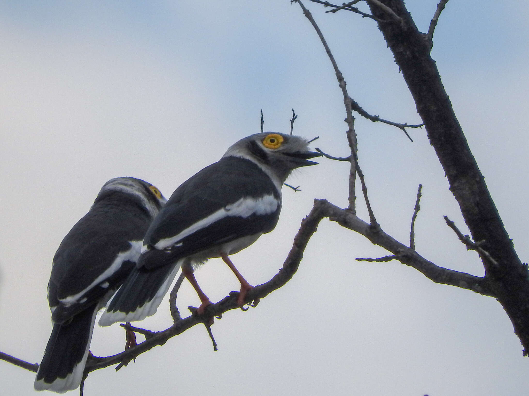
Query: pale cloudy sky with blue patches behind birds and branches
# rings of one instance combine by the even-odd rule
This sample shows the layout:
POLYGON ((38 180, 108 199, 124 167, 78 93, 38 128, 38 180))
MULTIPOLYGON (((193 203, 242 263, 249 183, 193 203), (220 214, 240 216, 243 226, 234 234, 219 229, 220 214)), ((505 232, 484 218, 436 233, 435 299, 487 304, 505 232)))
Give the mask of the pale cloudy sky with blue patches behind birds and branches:
MULTIPOLYGON (((426 31, 437 0, 406 2, 426 31)), ((325 14, 320 24, 348 83, 371 114, 419 123, 386 43, 368 18, 325 14)), ((432 57, 522 261, 529 253, 527 113, 529 3, 451 1, 432 57)), ((0 2, 0 351, 40 362, 51 331, 46 286, 66 233, 110 178, 134 176, 169 196, 236 140, 295 134, 348 155, 343 98, 312 26, 289 0, 230 2, 0 2)), ((403 243, 419 183, 416 248, 440 266, 482 275, 446 227, 465 231, 424 130, 357 117, 360 164, 382 228, 403 243)), ((322 159, 290 178, 276 229, 232 260, 251 284, 282 266, 314 198, 347 206, 348 165, 322 159)), ((360 210, 367 218, 364 209, 360 210)), ((468 230, 466 230, 468 232, 468 230)), ((437 285, 361 235, 322 221, 288 284, 243 313, 172 338, 114 372, 90 374, 85 395, 492 396, 524 394, 529 360, 497 301, 437 285)), ((197 271, 218 301, 238 281, 222 260, 197 271)), ((180 311, 198 306, 184 282, 180 311)), ((171 324, 168 301, 140 327, 171 324)), ((124 346, 113 325, 92 351, 124 346)), ((33 395, 34 374, 0 361, 5 395, 33 395)), ((78 394, 78 391, 70 392, 78 394)))

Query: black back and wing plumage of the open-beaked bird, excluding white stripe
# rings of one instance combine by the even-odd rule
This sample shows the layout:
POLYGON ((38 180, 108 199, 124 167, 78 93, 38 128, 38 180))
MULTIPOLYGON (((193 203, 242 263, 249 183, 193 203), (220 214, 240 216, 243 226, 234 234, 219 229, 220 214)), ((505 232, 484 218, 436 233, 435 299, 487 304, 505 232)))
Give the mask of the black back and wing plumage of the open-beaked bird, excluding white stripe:
POLYGON ((144 246, 154 246, 162 239, 179 234, 241 197, 259 199, 263 192, 279 202, 274 212, 246 218, 226 216, 181 239, 179 246, 172 247, 170 252, 156 249, 145 252, 138 261, 138 267, 152 269, 166 265, 206 248, 247 235, 267 233, 276 227, 281 197, 270 177, 258 165, 245 158, 224 157, 205 167, 171 195, 145 234, 144 246))

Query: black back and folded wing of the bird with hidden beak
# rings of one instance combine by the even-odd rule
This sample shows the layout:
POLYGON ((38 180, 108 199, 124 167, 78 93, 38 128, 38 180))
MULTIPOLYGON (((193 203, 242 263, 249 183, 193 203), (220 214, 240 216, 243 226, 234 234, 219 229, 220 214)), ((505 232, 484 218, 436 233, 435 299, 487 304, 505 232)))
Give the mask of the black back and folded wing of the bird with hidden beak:
POLYGON ((144 211, 96 204, 74 225, 53 259, 48 300, 55 323, 64 323, 121 285, 139 256, 139 242, 132 252, 129 241, 142 240, 149 220, 144 211), (127 251, 131 254, 115 262, 127 251), (93 285, 105 271, 104 279, 93 285))

